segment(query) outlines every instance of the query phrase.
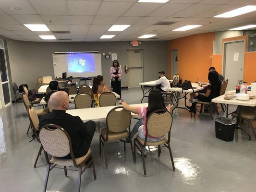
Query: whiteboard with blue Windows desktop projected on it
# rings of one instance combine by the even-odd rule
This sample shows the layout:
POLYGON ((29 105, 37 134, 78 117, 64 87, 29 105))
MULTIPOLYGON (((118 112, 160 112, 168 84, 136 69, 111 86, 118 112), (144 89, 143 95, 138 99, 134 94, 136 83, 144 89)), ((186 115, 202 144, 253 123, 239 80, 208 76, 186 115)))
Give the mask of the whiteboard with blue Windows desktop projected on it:
POLYGON ((62 78, 62 72, 67 77, 94 77, 101 75, 100 53, 64 53, 52 54, 54 77, 62 78))

